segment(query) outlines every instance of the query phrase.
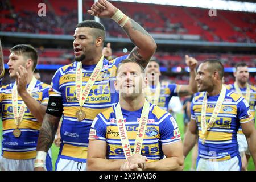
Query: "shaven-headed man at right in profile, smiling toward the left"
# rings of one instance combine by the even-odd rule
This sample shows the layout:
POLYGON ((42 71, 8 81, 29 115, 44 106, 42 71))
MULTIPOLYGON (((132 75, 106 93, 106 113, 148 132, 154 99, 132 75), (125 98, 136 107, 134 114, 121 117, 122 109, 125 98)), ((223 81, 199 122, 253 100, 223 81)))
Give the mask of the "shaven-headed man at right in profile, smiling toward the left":
POLYGON ((220 61, 205 60, 197 69, 199 95, 191 104, 191 121, 184 138, 184 156, 198 139, 197 170, 241 170, 237 131, 242 127, 256 164, 256 130, 247 101, 222 85, 220 61))

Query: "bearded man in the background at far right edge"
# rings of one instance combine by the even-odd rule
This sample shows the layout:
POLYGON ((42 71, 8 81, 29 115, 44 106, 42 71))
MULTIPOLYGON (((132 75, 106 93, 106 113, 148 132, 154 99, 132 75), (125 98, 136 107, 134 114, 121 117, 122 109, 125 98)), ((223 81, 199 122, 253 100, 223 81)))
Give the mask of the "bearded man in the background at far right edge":
MULTIPOLYGON (((245 98, 250 105, 250 113, 255 117, 256 88, 254 85, 249 84, 248 66, 245 63, 238 63, 236 64, 235 68, 236 71, 233 74, 236 80, 234 84, 227 85, 226 88, 245 98)), ((237 133, 237 141, 240 156, 242 158, 242 170, 246 170, 248 161, 250 159, 250 152, 245 134, 243 134, 241 127, 237 133)))

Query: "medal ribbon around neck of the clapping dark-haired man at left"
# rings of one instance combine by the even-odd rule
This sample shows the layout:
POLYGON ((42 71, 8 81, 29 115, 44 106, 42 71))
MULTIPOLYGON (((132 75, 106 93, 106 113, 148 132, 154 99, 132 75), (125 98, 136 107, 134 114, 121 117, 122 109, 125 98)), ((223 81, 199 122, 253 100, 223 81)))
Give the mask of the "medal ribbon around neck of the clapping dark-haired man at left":
MULTIPOLYGON (((31 94, 32 90, 35 88, 36 85, 36 78, 33 76, 30 84, 28 85, 27 92, 31 94)), ((14 83, 13 90, 11 92, 11 101, 13 105, 13 115, 14 115, 14 121, 16 123, 17 128, 19 127, 20 123, 22 122, 22 119, 24 117, 24 113, 26 111, 26 104, 24 101, 22 101, 22 104, 20 105, 19 111, 18 111, 18 90, 17 90, 17 84, 14 83)))

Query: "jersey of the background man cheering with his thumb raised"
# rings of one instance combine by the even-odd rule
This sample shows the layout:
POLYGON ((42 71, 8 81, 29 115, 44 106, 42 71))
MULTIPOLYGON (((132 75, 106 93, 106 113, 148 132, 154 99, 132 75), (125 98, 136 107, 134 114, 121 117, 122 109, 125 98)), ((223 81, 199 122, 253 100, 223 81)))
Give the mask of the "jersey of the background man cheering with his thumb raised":
MULTIPOLYGON (((160 82, 160 95, 158 100, 158 106, 161 107, 163 110, 168 110, 168 104, 172 98, 172 96, 178 95, 178 90, 180 89, 181 85, 177 84, 169 84, 168 82, 160 82)), ((156 86, 150 86, 151 93, 154 94, 156 86)), ((146 96, 147 99, 147 96, 146 96)))

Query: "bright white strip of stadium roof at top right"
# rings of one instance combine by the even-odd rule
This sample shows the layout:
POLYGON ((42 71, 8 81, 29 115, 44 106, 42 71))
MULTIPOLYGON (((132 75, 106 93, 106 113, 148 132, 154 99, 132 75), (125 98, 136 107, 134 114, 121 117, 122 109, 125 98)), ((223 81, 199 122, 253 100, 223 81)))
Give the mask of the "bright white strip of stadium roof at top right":
MULTIPOLYGON (((201 7, 207 9, 231 10, 231 11, 247 11, 256 13, 255 1, 225 1, 225 0, 112 0, 123 2, 153 3, 159 5, 201 7)), ((250 1, 250 0, 249 0, 250 1)))

